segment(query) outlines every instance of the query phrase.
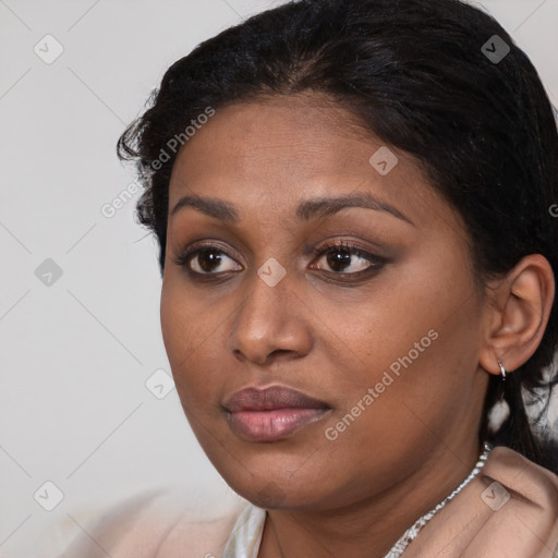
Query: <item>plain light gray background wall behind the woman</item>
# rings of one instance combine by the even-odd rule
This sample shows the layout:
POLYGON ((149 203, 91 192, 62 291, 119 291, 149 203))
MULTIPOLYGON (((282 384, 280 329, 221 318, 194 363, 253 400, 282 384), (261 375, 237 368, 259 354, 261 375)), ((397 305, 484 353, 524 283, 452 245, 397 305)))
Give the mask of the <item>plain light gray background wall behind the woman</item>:
MULTIPOLYGON (((145 385, 170 369, 137 194, 111 218, 101 207, 134 180, 114 144, 165 70, 278 3, 0 0, 0 554, 52 556, 99 510, 153 487, 180 485, 194 506, 231 495, 175 390, 158 399, 168 381, 156 395, 145 385), (34 51, 56 52, 47 34, 63 47, 50 64, 34 51), (52 511, 47 481, 64 495, 52 511)), ((483 5, 558 106, 558 0, 483 5)))

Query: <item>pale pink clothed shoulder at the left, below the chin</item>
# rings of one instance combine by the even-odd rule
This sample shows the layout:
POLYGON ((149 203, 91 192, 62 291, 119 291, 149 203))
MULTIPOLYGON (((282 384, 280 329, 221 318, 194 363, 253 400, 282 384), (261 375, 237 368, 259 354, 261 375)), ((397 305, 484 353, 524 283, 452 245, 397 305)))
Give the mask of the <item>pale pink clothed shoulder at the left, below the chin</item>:
POLYGON ((165 490, 130 498, 102 513, 59 558, 181 558, 220 556, 246 500, 218 510, 192 509, 165 490))

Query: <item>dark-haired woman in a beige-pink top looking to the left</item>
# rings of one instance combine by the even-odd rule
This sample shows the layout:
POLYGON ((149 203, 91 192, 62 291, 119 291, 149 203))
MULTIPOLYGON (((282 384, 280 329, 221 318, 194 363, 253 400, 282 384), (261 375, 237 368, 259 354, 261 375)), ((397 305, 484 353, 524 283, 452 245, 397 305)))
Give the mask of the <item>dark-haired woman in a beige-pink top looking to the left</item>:
POLYGON ((558 135, 497 22, 288 3, 175 62, 119 148, 182 407, 242 505, 133 502, 68 556, 557 556, 523 395, 558 381, 558 135))

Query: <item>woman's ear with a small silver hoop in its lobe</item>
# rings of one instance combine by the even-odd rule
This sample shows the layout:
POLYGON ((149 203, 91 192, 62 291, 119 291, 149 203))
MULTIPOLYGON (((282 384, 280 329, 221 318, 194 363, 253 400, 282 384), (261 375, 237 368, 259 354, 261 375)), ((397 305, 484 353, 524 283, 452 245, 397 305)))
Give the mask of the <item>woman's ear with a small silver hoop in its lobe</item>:
POLYGON ((489 284, 480 365, 500 374, 524 364, 536 351, 555 295, 553 268, 541 254, 525 256, 504 278, 489 284))

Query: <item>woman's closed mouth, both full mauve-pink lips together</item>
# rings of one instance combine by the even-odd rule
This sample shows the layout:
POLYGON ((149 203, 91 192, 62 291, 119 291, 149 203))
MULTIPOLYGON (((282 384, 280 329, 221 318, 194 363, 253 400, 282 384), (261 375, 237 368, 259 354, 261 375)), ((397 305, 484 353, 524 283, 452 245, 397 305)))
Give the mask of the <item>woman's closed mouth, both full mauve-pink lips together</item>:
POLYGON ((324 401, 284 386, 242 389, 222 407, 232 432, 246 441, 287 438, 331 410, 324 401))

